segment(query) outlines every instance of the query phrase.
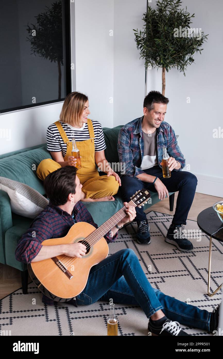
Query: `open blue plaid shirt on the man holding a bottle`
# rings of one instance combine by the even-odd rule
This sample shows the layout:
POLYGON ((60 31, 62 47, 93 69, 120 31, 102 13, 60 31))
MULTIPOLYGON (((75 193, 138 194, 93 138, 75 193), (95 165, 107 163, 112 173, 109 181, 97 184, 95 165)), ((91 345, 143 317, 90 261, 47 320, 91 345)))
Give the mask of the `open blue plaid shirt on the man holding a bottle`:
MULTIPOLYGON (((144 155, 144 141, 142 137, 142 120, 144 116, 136 118, 121 128, 118 134, 119 162, 125 163, 125 175, 136 177, 145 173, 140 169, 144 155)), ((185 167, 185 159, 178 146, 176 135, 167 122, 161 122, 157 128, 157 160, 163 159, 163 146, 166 146, 170 157, 175 158, 181 164, 181 168, 173 171, 181 171, 185 167)))

